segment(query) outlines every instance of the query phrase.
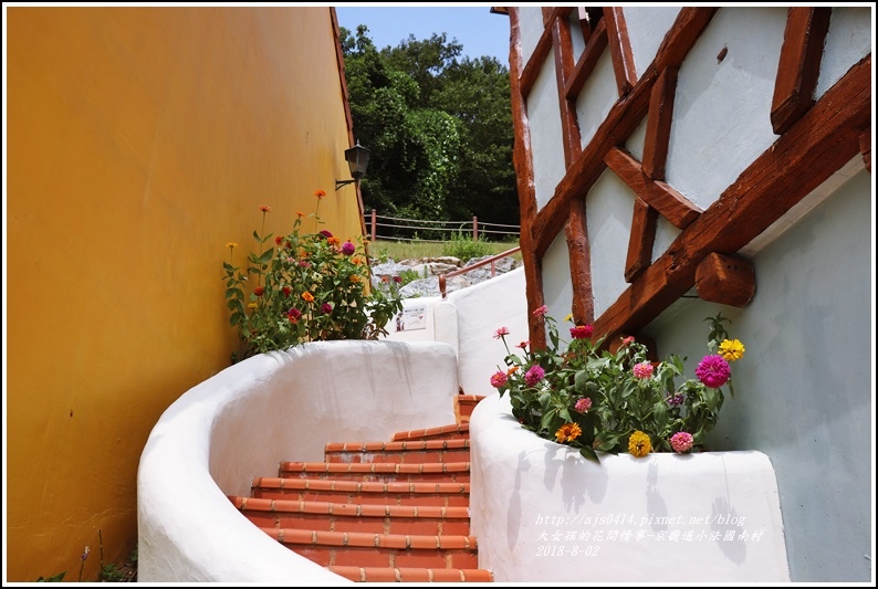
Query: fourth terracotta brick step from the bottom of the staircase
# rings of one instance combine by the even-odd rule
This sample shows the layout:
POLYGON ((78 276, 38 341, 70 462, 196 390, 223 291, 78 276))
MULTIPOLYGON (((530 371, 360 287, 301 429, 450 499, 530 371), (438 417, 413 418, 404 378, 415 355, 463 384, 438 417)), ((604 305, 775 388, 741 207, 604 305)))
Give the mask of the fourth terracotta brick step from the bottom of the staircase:
POLYGON ((325 501, 378 505, 437 505, 467 507, 469 483, 364 482, 333 478, 259 476, 250 485, 259 498, 325 501))

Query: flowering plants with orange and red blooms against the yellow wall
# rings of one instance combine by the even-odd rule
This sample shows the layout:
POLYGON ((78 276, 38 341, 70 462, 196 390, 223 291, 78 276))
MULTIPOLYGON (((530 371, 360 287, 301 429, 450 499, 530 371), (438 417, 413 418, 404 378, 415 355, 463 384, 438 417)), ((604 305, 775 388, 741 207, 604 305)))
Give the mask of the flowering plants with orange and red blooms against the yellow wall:
MULTIPOLYGON (((315 192, 317 210, 325 193, 315 192)), ((341 240, 330 231, 304 233, 302 215, 292 231, 273 240, 264 234, 265 214, 261 206, 262 231, 253 231, 259 252, 248 256, 243 273, 230 262, 226 271, 226 304, 229 323, 238 329, 241 358, 285 349, 305 341, 331 339, 377 339, 386 335, 385 325, 403 308, 398 290, 369 290, 369 271, 362 238, 341 240), (252 277, 255 285, 248 287, 252 277)), ((228 244, 232 254, 237 244, 228 244)), ((237 361, 232 354, 232 361, 237 361)))

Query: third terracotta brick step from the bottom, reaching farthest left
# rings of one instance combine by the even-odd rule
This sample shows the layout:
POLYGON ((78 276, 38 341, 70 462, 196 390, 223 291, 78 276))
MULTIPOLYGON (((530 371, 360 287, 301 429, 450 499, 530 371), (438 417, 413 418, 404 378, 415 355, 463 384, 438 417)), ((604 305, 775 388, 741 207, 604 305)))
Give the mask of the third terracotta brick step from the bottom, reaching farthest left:
POLYGON ((360 532, 368 534, 470 534, 469 507, 358 505, 229 496, 259 527, 360 532))

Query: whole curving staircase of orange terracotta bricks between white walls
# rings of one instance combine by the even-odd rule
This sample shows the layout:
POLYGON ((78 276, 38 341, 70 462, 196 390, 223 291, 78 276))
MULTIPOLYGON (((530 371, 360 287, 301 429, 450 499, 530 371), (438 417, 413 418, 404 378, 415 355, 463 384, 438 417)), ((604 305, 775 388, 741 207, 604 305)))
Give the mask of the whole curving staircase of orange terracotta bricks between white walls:
POLYGON ((234 506, 284 546, 353 581, 490 582, 470 535, 469 417, 483 397, 454 398, 456 423, 339 442, 324 462, 281 462, 234 506))

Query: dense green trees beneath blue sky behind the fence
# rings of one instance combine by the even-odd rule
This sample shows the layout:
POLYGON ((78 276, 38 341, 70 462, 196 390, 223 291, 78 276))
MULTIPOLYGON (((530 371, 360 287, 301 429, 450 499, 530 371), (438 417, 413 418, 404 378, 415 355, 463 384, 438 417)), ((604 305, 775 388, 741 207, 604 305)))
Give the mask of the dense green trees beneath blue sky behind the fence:
POLYGON ((409 219, 516 224, 508 67, 461 56, 445 33, 380 51, 365 25, 341 33, 355 136, 373 151, 364 203, 409 219))

